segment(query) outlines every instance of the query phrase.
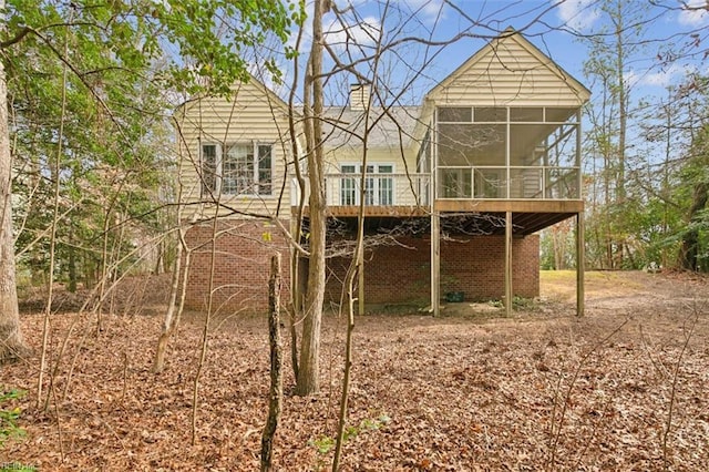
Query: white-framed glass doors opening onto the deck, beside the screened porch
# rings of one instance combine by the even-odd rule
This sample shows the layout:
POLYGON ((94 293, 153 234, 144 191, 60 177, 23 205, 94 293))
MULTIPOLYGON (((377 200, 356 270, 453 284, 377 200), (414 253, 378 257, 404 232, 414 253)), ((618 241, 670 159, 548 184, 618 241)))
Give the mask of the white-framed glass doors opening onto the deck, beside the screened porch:
MULTIPOLYGON (((361 164, 342 164, 342 174, 352 176, 340 179, 340 205, 359 205, 359 183, 362 173, 361 164)), ((364 181, 364 205, 384 206, 394 204, 394 172, 392 164, 367 165, 367 178, 364 181), (389 175, 387 175, 389 174, 389 175)))

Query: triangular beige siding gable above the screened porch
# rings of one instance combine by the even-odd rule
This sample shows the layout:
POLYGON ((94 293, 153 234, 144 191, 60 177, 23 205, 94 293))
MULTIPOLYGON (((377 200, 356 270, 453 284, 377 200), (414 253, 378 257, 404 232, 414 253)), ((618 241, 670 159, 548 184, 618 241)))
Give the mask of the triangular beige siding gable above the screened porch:
POLYGON ((430 98, 438 105, 579 106, 587 91, 517 34, 484 48, 430 98))

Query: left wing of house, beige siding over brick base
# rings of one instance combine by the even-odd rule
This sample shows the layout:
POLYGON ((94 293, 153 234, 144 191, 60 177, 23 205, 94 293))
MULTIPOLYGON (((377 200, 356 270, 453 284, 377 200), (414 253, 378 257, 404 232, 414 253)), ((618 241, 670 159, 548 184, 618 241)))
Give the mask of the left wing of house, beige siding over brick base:
POLYGON ((186 304, 205 309, 212 291, 213 309, 265 310, 270 256, 290 252, 288 106, 254 79, 236 84, 232 100, 183 104, 175 127, 191 253, 186 304))

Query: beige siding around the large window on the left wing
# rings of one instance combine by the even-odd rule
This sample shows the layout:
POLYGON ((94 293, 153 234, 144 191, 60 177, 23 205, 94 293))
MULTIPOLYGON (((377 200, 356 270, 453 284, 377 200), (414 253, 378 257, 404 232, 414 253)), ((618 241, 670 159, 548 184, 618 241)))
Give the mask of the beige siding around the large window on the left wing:
MULTIPOLYGON (((290 182, 284 181, 286 162, 292 162, 288 134, 288 114, 282 102, 257 83, 239 84, 232 100, 206 98, 183 106, 176 114, 177 134, 182 133, 181 153, 185 157, 182 172, 183 201, 199 202, 199 154, 202 144, 271 145, 270 195, 222 195, 222 203, 240 212, 273 216, 290 213, 290 182)), ((179 137, 178 137, 179 138, 179 137)), ((205 216, 213 215, 214 206, 194 206, 205 216)), ((188 211, 189 212, 189 211, 188 211)), ((228 213, 223 209, 220 214, 228 213)), ((197 215, 199 216, 199 215, 197 215)))

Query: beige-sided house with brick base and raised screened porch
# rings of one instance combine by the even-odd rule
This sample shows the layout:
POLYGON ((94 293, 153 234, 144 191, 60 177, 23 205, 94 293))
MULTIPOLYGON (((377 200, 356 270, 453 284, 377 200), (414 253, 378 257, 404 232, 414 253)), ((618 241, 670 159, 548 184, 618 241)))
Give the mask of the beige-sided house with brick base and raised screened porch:
MULTIPOLYGON (((335 252, 329 298, 340 299, 349 264, 336 249, 353 237, 367 134, 370 243, 360 278, 367 302, 430 304, 438 312, 445 296, 537 296, 536 233, 576 218, 583 311, 580 107, 588 90, 508 29, 430 90, 420 106, 369 107, 370 93, 367 84, 353 84, 349 103, 326 112, 335 252)), ((288 136, 298 127, 290 131, 286 104, 256 80, 238 84, 230 102, 185 104, 178 122, 183 202, 193 222, 187 301, 204 306, 212 279, 219 306, 263 309, 268 258, 275 250, 290 254, 286 233, 292 234, 308 192, 292 184, 302 146, 294 148, 288 136)), ((307 237, 295 239, 307 245, 307 237)), ((302 259, 300 284, 307 284, 306 265, 302 259)))

